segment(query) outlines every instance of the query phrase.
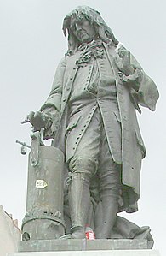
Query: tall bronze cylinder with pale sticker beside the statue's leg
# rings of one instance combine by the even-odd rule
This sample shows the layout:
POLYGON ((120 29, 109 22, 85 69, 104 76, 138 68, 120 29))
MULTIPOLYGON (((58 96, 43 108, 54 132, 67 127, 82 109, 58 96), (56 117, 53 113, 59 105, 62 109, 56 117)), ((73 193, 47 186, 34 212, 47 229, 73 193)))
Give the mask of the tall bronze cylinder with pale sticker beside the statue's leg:
POLYGON ((65 234, 64 155, 54 146, 41 146, 39 134, 31 139, 22 240, 57 239, 65 234))

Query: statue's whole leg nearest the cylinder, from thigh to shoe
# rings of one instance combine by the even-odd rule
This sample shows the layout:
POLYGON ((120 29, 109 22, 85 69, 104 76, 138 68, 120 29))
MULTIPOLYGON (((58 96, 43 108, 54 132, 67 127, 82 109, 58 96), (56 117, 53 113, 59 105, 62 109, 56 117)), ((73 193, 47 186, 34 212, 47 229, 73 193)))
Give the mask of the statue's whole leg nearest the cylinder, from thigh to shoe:
MULTIPOLYGON (((74 129, 66 140, 66 153, 70 151, 69 141, 75 138, 74 129)), ((98 169, 100 151, 100 118, 96 111, 83 134, 77 150, 68 161, 71 181, 69 184, 69 207, 72 221, 72 238, 85 237, 85 226, 90 206, 89 181, 98 169)))

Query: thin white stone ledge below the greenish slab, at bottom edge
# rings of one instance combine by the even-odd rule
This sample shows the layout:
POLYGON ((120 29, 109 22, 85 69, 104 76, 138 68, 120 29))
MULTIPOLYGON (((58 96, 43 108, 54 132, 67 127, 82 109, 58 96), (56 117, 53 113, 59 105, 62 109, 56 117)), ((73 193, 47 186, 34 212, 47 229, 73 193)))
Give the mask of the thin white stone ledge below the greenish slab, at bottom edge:
POLYGON ((100 250, 40 253, 8 253, 7 256, 160 256, 157 250, 100 250))

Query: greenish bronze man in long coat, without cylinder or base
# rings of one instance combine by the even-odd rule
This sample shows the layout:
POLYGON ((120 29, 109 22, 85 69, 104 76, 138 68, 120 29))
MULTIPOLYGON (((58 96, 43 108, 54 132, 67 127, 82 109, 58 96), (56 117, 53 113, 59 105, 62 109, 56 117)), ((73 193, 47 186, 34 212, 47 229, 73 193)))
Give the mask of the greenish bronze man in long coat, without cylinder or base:
POLYGON ((155 110, 157 87, 114 37, 100 13, 86 6, 66 15, 68 51, 49 98, 28 116, 66 156, 72 238, 85 236, 90 184, 102 209, 97 238, 109 238, 119 211, 136 211, 146 149, 135 110, 155 110))

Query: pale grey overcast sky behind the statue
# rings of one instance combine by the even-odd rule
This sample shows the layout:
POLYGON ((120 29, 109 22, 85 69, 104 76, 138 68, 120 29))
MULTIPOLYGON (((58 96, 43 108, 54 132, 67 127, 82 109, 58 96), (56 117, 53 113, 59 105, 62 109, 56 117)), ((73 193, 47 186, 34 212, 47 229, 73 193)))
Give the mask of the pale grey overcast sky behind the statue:
MULTIPOLYGON (((161 253, 166 230, 166 18, 165 0, 0 0, 0 205, 21 219, 26 212, 27 155, 15 140, 30 143, 30 125, 21 125, 49 94, 54 71, 66 52, 64 16, 77 5, 100 11, 119 41, 140 62, 160 92, 156 112, 142 108, 146 144, 141 170, 140 210, 125 215, 149 225, 161 253)), ((163 254, 164 255, 164 254, 163 254)))

